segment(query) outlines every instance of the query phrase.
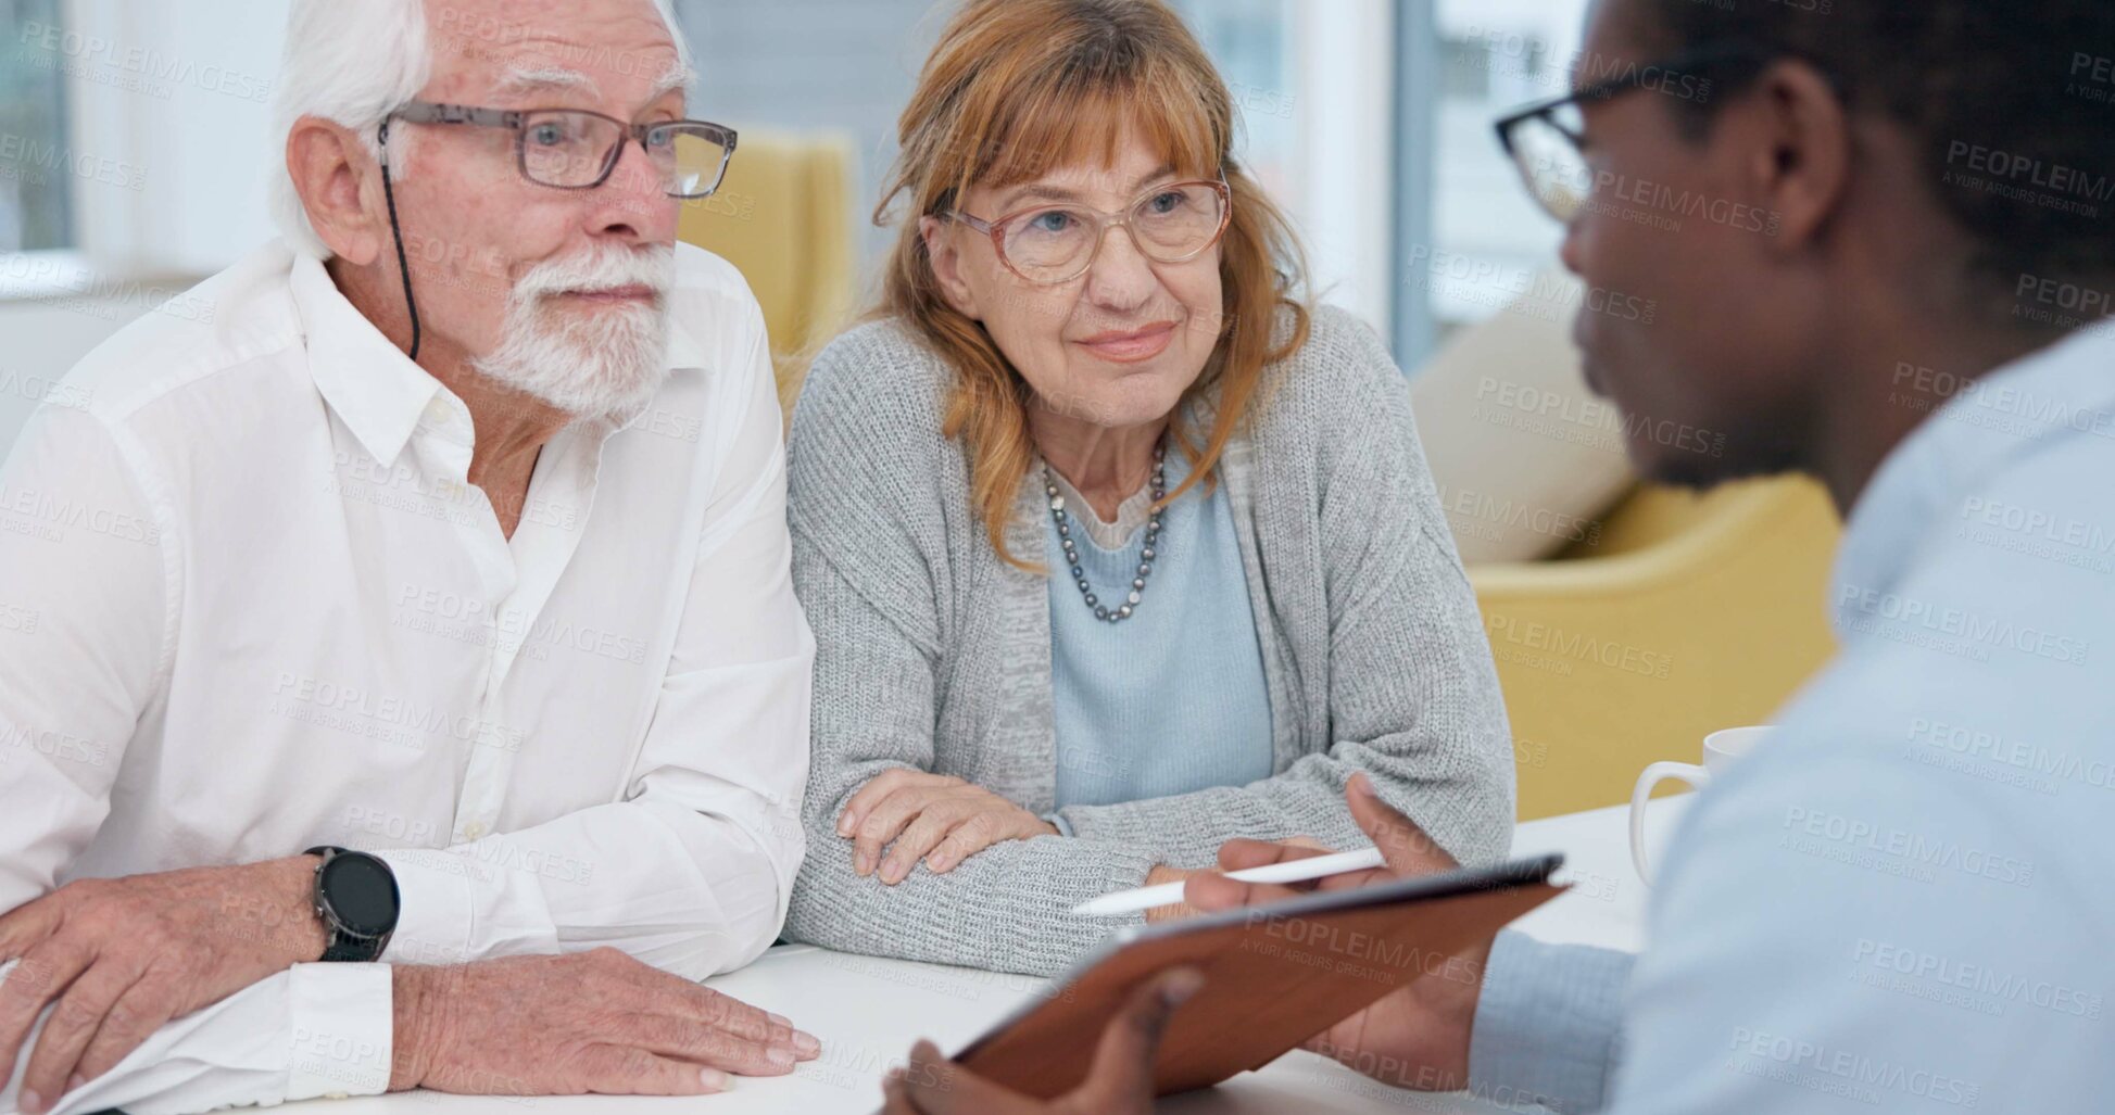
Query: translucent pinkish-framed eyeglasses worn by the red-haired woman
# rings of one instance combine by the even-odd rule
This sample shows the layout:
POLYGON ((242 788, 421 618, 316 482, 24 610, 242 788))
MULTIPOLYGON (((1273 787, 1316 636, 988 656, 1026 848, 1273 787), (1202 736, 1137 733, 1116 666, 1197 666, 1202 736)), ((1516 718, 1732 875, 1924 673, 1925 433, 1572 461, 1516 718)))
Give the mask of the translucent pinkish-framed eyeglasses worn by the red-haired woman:
POLYGON ((992 237, 998 262, 1032 284, 1068 284, 1102 254, 1108 226, 1121 224, 1140 256, 1153 262, 1189 262, 1218 243, 1233 220, 1233 190, 1220 180, 1174 182, 1138 195, 1127 209, 1106 214, 1087 205, 1036 205, 998 220, 960 209, 945 214, 992 237))

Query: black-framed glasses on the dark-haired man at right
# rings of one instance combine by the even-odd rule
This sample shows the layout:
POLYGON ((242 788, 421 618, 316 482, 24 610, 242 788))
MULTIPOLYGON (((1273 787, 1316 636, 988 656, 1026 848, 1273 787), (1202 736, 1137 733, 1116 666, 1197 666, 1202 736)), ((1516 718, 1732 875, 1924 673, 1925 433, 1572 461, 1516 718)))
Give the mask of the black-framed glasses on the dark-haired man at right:
POLYGON ((1626 68, 1563 97, 1531 104, 1500 118, 1497 144, 1519 167, 1527 193, 1552 218, 1569 224, 1593 197, 1593 167, 1586 163, 1586 112, 1582 106, 1607 102, 1639 89, 1703 104, 1711 83, 1705 72, 1734 63, 1760 63, 1766 53, 1749 42, 1709 42, 1645 66, 1626 68))

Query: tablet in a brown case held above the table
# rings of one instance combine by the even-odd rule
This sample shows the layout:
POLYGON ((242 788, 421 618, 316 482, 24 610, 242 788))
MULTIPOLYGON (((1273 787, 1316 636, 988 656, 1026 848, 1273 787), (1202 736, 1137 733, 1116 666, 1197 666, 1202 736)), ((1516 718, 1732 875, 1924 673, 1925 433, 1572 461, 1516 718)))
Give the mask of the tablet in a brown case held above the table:
POLYGON ((1341 1018, 1561 895, 1561 855, 1127 929, 954 1060, 1051 1100, 1085 1081, 1108 1020, 1142 980, 1203 971, 1167 1022, 1155 1094, 1210 1087, 1263 1068, 1341 1018))

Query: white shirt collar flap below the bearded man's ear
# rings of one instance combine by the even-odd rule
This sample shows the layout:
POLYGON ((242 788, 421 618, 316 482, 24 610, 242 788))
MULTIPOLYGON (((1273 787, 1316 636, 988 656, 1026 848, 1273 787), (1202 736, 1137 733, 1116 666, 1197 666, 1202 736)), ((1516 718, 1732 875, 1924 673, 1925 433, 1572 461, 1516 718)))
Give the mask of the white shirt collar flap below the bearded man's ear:
POLYGON ((290 281, 315 389, 368 455, 396 463, 427 404, 446 389, 345 298, 324 260, 296 254, 290 281))

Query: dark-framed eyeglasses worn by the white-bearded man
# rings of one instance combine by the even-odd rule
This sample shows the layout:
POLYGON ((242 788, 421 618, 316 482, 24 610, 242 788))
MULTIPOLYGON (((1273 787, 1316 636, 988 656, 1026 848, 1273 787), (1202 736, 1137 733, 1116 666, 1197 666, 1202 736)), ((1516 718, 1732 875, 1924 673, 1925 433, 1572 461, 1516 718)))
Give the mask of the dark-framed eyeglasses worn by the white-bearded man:
POLYGON ((632 140, 647 152, 668 197, 711 197, 734 159, 734 129, 704 121, 635 125, 584 108, 505 110, 431 102, 410 102, 391 116, 415 125, 512 129, 522 178, 558 190, 592 190, 609 182, 624 159, 624 144, 632 140))

